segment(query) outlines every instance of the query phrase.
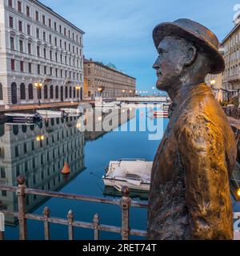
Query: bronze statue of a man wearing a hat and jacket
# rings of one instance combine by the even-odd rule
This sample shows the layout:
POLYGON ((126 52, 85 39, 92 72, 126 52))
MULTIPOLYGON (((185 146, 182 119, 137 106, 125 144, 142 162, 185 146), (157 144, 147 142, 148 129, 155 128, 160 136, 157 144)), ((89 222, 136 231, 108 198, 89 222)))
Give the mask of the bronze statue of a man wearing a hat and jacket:
POLYGON ((236 162, 234 134, 206 86, 224 71, 218 38, 189 19, 154 28, 159 90, 173 101, 154 158, 149 239, 233 239, 229 179, 236 162))

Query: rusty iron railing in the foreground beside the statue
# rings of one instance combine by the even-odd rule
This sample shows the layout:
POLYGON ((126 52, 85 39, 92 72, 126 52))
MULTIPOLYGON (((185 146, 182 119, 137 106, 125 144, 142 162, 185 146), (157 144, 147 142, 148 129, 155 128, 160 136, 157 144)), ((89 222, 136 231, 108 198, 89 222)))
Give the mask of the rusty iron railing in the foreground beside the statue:
MULTIPOLYGON (((45 190, 29 189, 25 185, 25 177, 18 176, 18 186, 0 186, 0 190, 10 191, 16 193, 18 197, 18 212, 3 210, 2 202, 0 202, 0 211, 10 217, 18 218, 19 222, 19 239, 27 239, 27 219, 40 221, 44 223, 44 237, 45 240, 50 240, 50 223, 68 226, 68 237, 70 240, 74 239, 74 228, 85 228, 94 230, 94 240, 99 240, 100 231, 114 232, 122 235, 122 240, 128 240, 130 235, 146 237, 146 230, 134 230, 130 228, 130 207, 147 208, 147 202, 132 201, 129 197, 129 188, 122 187, 121 199, 98 198, 93 196, 85 196, 79 194, 65 194, 59 192, 50 192, 45 190), (46 207, 42 215, 28 214, 26 212, 26 195, 38 195, 49 198, 66 198, 85 202, 96 202, 110 205, 117 205, 122 210, 122 226, 108 226, 100 223, 98 214, 94 215, 93 222, 79 222, 74 220, 74 213, 70 210, 67 218, 53 218, 50 217, 50 209, 46 207)), ((4 232, 0 231, 0 240, 4 239, 4 232)))

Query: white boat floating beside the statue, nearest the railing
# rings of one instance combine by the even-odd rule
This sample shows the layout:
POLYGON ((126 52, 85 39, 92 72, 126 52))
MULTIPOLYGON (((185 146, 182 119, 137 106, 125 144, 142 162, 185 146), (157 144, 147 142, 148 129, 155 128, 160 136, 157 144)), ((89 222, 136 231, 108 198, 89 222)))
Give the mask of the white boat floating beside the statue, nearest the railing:
POLYGON ((110 161, 102 179, 105 186, 114 186, 116 190, 128 186, 131 190, 149 191, 152 166, 153 162, 142 159, 110 161))

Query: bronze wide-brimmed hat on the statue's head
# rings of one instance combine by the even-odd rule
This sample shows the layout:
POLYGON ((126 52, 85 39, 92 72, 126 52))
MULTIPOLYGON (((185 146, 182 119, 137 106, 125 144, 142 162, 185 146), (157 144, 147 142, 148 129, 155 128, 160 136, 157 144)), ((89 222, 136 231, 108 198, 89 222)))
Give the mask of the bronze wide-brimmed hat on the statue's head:
POLYGON ((194 42, 194 46, 201 49, 210 58, 210 74, 219 74, 225 70, 224 58, 218 51, 218 38, 206 26, 188 18, 180 18, 175 22, 160 23, 153 31, 154 44, 157 49, 159 43, 166 36, 177 36, 194 42))

